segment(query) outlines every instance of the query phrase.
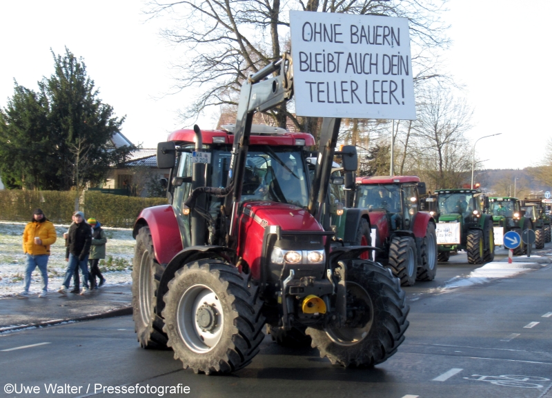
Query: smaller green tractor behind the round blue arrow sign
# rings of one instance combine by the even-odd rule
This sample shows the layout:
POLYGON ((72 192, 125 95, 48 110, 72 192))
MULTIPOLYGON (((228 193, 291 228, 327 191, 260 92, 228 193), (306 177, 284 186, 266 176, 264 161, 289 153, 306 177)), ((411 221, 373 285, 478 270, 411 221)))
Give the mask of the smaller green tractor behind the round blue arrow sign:
MULTIPOLYGON (((521 208, 520 199, 515 197, 491 197, 489 198, 489 214, 493 216, 493 225, 496 245, 502 245, 504 234, 509 231, 515 231, 522 235, 524 230, 533 229, 531 217, 525 217, 525 212, 521 208)), ((524 255, 527 252, 527 245, 522 241, 520 246, 513 250, 516 256, 524 255)))

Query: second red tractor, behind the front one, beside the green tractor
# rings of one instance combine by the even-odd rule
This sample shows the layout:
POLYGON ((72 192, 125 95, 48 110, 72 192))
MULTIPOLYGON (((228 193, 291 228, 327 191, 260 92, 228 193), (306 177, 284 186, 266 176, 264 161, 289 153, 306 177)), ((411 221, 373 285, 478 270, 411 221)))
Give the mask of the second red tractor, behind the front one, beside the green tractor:
POLYGON ((412 176, 357 177, 355 204, 369 211, 375 259, 402 285, 433 281, 437 272, 435 220, 418 209, 426 184, 412 176), (374 234, 373 234, 374 235, 374 234))

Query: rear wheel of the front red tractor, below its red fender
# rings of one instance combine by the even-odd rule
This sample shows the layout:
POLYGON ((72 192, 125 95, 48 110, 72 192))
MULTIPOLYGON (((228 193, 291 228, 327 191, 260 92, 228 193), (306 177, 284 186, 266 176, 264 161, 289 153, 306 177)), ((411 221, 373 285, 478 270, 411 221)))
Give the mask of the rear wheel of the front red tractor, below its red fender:
POLYGON ((141 348, 167 348, 164 321, 155 313, 157 286, 150 228, 140 228, 132 264, 132 319, 141 348))

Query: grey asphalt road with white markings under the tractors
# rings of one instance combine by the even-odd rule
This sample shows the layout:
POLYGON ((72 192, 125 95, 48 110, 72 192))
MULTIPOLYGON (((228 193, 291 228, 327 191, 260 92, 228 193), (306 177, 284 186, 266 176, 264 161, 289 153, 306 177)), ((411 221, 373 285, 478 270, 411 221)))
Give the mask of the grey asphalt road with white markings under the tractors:
POLYGON ((127 316, 0 336, 0 398, 177 396, 152 386, 190 397, 552 397, 552 266, 440 290, 475 267, 454 256, 440 264, 435 281, 406 288, 406 340, 373 369, 332 366, 317 350, 282 348, 266 337, 247 368, 195 375, 181 369, 171 351, 139 348, 127 316), (74 392, 46 392, 45 384, 74 392), (150 386, 150 393, 107 389, 136 384, 150 386), (7 393, 13 386, 17 392, 7 393), (21 393, 22 387, 39 393, 21 393))

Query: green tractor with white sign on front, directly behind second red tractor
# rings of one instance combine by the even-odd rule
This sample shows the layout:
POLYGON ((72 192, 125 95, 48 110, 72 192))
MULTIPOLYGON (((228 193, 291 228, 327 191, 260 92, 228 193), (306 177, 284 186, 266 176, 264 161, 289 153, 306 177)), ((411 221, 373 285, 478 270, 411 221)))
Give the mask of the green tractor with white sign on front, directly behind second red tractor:
POLYGON ((486 214, 489 201, 480 190, 436 190, 437 258, 449 261, 451 252, 466 250, 468 262, 482 264, 495 258, 493 217, 486 214))

